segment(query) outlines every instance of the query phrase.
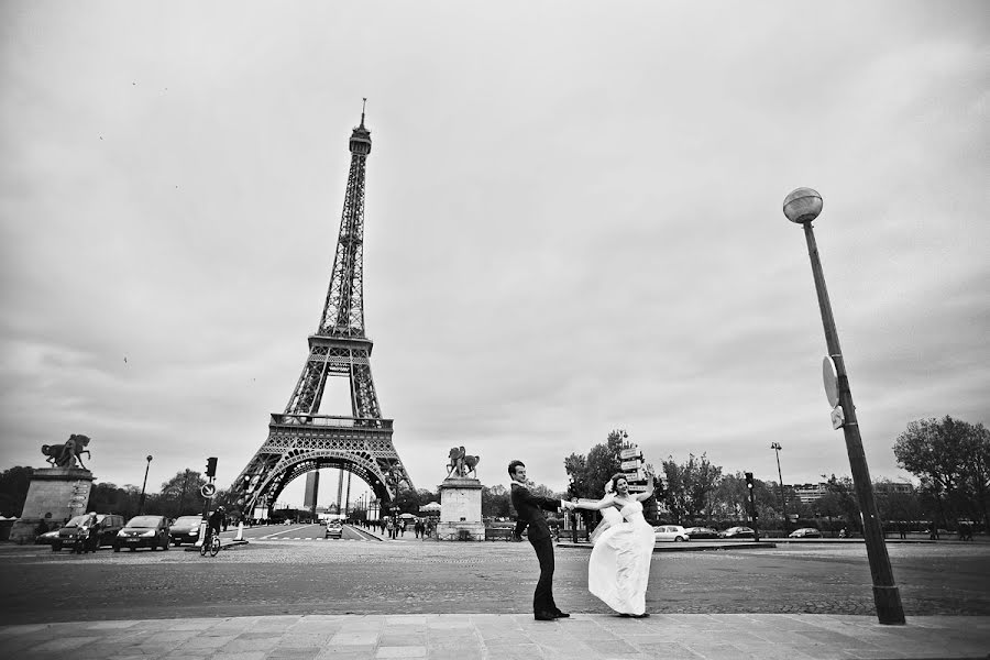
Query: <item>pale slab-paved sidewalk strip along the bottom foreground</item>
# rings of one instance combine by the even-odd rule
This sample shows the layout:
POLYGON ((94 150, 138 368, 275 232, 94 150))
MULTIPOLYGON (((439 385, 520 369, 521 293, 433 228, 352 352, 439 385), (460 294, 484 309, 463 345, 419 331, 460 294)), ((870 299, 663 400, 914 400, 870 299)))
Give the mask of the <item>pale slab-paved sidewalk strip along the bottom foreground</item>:
POLYGON ((310 615, 0 627, 7 658, 79 660, 803 660, 988 658, 990 617, 682 614, 310 615))

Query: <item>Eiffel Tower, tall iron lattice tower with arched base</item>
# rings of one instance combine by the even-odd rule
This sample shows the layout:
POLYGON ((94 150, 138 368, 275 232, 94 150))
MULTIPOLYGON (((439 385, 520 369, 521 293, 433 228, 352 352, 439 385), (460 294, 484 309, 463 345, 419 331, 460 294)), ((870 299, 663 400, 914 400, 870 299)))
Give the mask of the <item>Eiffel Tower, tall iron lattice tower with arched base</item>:
MULTIPOLYGON (((365 99, 366 100, 366 99, 365 99)), ((285 413, 273 413, 268 438, 238 475, 232 493, 246 515, 271 506, 297 476, 321 468, 364 480, 382 503, 399 484, 413 482, 392 443, 392 421, 382 417, 371 374, 373 342, 364 334, 364 169, 371 131, 351 132, 351 170, 340 219, 340 237, 323 314, 309 337, 309 356, 285 413), (346 377, 351 416, 319 415, 327 378, 346 377)))

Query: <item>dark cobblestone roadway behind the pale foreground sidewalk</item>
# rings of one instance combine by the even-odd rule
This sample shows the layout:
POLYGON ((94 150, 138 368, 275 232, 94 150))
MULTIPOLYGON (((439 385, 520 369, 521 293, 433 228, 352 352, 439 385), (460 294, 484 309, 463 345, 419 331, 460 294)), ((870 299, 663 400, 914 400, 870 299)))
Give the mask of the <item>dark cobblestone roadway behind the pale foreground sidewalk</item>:
MULTIPOLYGON (((990 544, 889 547, 905 613, 990 615, 990 544)), ((558 548, 554 592, 572 613, 605 614, 587 593, 586 549, 558 548)), ((263 541, 213 559, 169 552, 0 551, 4 623, 272 614, 529 612, 538 568, 528 543, 416 539, 263 541)), ((862 546, 657 553, 657 614, 873 614, 862 546)))

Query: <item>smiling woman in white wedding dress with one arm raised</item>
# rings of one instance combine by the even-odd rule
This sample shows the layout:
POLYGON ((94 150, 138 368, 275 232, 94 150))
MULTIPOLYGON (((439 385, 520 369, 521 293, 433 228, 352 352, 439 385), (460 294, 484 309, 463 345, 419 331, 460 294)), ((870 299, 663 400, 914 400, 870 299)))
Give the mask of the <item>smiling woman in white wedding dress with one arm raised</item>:
POLYGON ((605 520, 595 529, 597 539, 587 562, 587 590, 622 616, 644 618, 650 559, 656 538, 642 517, 642 503, 653 494, 653 477, 647 491, 629 493, 626 475, 616 474, 598 502, 579 502, 578 508, 601 510, 605 520), (613 509, 613 512, 609 512, 613 509), (604 531, 600 531, 603 526, 604 531))

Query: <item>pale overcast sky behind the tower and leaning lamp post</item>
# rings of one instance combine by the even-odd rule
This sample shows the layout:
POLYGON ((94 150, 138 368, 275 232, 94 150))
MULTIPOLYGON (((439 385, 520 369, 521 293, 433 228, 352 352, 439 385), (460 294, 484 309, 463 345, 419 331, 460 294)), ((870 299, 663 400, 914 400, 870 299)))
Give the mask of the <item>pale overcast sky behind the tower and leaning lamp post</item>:
POLYGON ((787 483, 849 474, 800 186, 871 473, 906 479, 910 421, 990 422, 988 18, 4 2, 0 469, 85 433, 100 482, 237 476, 320 320, 367 97, 365 323, 417 487, 464 446, 562 490, 614 428, 654 464, 776 481, 777 441, 787 483))

